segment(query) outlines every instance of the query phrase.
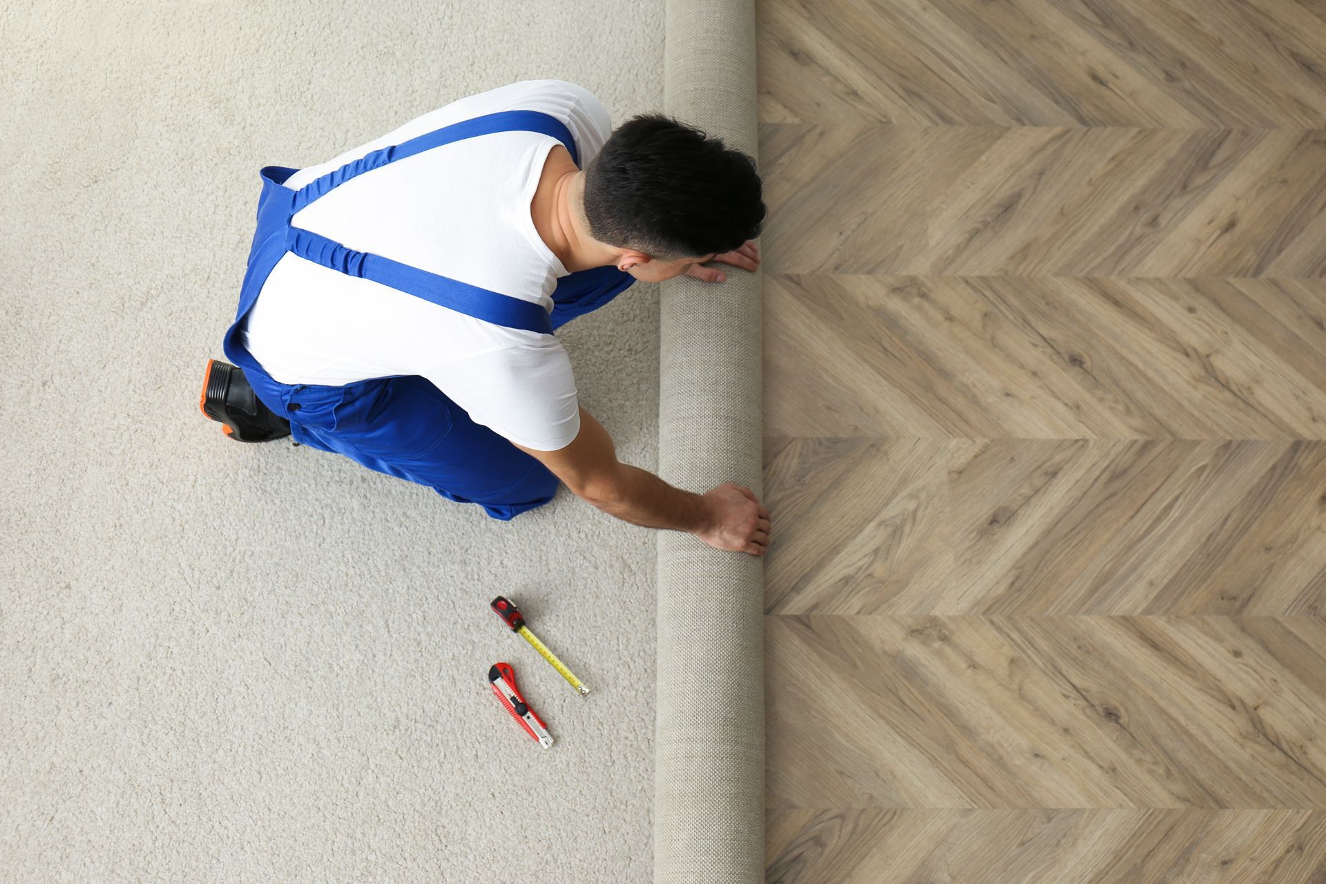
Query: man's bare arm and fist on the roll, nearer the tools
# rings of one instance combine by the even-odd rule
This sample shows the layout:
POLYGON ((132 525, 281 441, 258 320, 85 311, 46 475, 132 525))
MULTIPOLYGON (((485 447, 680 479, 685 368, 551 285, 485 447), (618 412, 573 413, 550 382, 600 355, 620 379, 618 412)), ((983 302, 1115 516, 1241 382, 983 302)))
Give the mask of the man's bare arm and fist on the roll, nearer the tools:
POLYGON ((582 406, 575 440, 557 451, 516 445, 537 459, 577 497, 634 525, 688 531, 720 550, 762 555, 769 542, 769 513, 740 485, 693 494, 654 473, 617 460, 613 437, 582 406))

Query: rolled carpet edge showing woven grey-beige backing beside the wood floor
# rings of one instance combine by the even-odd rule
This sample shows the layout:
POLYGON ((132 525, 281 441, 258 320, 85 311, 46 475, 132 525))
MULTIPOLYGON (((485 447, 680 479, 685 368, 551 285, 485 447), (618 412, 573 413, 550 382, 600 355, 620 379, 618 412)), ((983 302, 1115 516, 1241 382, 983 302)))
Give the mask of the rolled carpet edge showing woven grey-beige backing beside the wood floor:
MULTIPOLYGON (((667 111, 756 155, 752 0, 668 0, 667 111)), ((761 486, 760 277, 663 284, 659 474, 761 486)), ((764 880, 761 559, 660 531, 654 880, 764 880)))

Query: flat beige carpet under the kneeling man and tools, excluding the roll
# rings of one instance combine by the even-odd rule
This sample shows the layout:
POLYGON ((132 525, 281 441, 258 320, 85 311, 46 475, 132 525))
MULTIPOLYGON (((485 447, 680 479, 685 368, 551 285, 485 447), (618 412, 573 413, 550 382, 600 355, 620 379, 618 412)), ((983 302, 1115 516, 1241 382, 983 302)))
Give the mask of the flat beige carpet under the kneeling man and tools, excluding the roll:
MULTIPOLYGON (((198 414, 257 170, 522 78, 662 106, 662 0, 5 4, 0 880, 644 881, 651 530, 198 414), (513 596, 593 688, 488 611, 513 596), (541 750, 484 673, 511 661, 541 750)), ((561 333, 656 465, 658 293, 561 333)))

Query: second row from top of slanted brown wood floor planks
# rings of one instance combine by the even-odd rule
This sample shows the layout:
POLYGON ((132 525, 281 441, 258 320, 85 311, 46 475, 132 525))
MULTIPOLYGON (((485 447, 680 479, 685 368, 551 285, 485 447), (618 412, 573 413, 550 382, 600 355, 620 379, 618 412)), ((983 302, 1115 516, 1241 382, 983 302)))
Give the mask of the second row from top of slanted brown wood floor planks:
POLYGON ((1326 131, 761 127, 768 273, 1326 276, 1326 131))

